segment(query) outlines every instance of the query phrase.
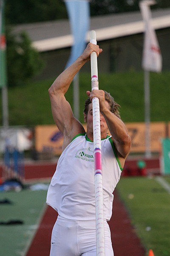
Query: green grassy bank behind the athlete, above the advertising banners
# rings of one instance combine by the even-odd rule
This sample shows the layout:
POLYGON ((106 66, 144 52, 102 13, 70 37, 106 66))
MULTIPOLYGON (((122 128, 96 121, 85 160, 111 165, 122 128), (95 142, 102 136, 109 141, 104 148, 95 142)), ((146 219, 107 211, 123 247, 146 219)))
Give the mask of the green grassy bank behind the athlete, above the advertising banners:
MULTIPOLYGON (((55 78, 54 78, 55 79, 55 78)), ((30 82, 20 87, 8 88, 8 107, 10 125, 42 125, 54 124, 48 88, 54 79, 30 82)), ((150 73, 150 119, 166 121, 170 109, 170 72, 150 73)), ((89 73, 79 74, 80 85, 80 121, 83 122, 82 111, 86 90, 91 90, 89 73)), ((144 121, 144 73, 123 72, 99 74, 99 88, 107 90, 121 105, 121 116, 124 122, 144 121)), ((66 98, 73 106, 73 86, 68 90, 66 98)), ((2 103, 0 96, 0 122, 2 123, 2 103)))

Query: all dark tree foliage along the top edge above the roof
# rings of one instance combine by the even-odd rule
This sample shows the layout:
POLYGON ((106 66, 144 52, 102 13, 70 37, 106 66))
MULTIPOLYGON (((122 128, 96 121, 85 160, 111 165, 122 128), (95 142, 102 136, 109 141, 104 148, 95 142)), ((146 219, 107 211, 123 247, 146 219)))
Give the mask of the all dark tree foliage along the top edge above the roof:
MULTIPOLYGON (((90 0, 91 16, 139 10, 140 0, 90 0)), ((170 8, 170 0, 156 0, 156 8, 170 8)), ((6 0, 6 23, 32 23, 67 18, 63 0, 6 0)))

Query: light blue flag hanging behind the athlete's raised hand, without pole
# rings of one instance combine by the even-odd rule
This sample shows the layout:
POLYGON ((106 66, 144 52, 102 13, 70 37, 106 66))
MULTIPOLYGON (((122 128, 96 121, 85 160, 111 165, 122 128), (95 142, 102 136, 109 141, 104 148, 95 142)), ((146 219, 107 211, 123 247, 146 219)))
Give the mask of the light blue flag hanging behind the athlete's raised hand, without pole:
POLYGON ((74 43, 66 67, 69 67, 85 49, 85 36, 89 30, 90 4, 88 0, 65 0, 74 43))

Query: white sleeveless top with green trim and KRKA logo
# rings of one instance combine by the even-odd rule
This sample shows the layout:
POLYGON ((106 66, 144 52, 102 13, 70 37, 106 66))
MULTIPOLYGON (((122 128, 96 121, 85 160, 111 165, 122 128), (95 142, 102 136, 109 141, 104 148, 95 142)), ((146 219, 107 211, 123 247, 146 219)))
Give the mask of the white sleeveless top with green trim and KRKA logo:
MULTIPOLYGON (((111 137, 101 140, 104 218, 112 215, 113 191, 121 175, 121 165, 111 137)), ((78 134, 59 157, 46 203, 60 216, 72 220, 94 220, 94 143, 78 134)))

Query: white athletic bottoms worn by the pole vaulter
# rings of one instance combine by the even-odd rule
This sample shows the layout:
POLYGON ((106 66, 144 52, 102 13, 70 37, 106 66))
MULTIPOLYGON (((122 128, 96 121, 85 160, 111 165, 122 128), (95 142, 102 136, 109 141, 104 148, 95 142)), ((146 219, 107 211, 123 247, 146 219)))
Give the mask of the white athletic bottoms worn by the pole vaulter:
MULTIPOLYGON (((104 229, 105 256, 113 256, 107 221, 104 229)), ((52 230, 50 256, 96 256, 96 221, 74 221, 58 216, 52 230)))

